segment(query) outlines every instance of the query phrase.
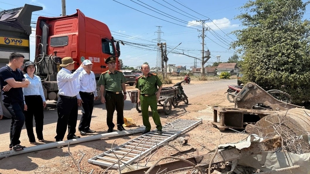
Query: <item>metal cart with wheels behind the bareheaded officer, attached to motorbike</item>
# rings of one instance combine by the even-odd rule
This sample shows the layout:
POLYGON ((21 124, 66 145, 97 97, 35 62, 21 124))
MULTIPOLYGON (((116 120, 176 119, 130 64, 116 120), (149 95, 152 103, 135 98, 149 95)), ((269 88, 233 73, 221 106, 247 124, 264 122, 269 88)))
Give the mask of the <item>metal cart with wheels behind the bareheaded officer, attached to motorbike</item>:
MULTIPOLYGON (((172 100, 173 98, 175 98, 176 95, 177 89, 173 87, 163 87, 162 91, 160 91, 157 106, 162 106, 166 115, 170 114, 172 108, 172 100)), ((130 91, 129 97, 131 99, 131 103, 136 104, 137 111, 142 112, 141 106, 138 104, 138 91, 130 91)))

